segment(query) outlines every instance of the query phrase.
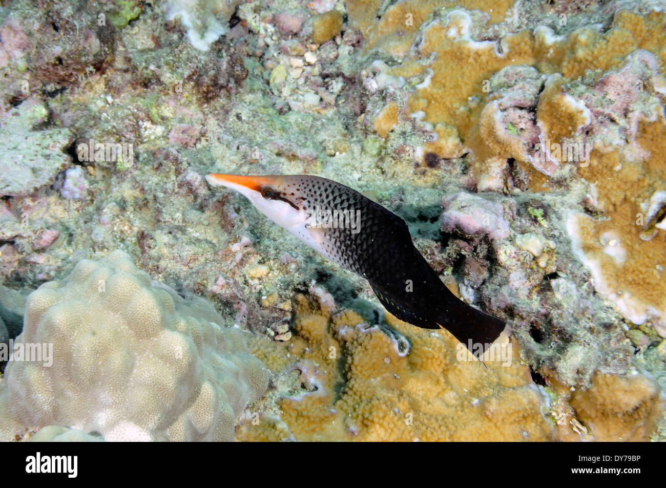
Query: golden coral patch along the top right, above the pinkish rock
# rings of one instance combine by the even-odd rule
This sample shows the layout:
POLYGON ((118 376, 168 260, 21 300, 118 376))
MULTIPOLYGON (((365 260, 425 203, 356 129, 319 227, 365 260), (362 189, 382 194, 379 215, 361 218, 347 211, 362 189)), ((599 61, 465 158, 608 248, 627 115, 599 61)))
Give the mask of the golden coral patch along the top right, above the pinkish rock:
POLYGON ((619 10, 611 29, 604 33, 587 27, 568 36, 556 36, 548 27, 507 33, 499 41, 501 51, 498 43, 474 41, 476 29, 488 21, 502 21, 512 5, 512 1, 470 0, 451 9, 441 1, 400 1, 380 11, 381 3, 376 0, 348 1, 350 25, 364 33, 366 48, 404 58, 388 73, 406 79, 426 77, 416 85, 405 107, 408 115, 422 113, 422 121, 432 124, 436 134, 424 144, 423 153, 452 158, 471 151, 478 178, 484 178, 486 165, 488 171, 497 172, 498 159, 515 158, 515 141, 509 138, 494 144, 498 128, 488 127, 486 115, 486 107, 493 101, 486 100, 484 83, 503 67, 525 64, 555 75, 539 103, 537 119, 552 142, 561 142, 563 136, 579 128, 585 115, 564 103, 565 95, 558 93, 558 85, 586 71, 617 69, 636 49, 645 49, 662 60, 666 57, 661 49, 666 43, 662 28, 665 17, 656 11, 639 15, 619 10), (381 18, 375 19, 372 13, 381 18), (424 25, 426 19, 429 23, 424 25), (414 44, 419 31, 422 41, 414 44), (432 74, 426 76, 426 71, 432 74))

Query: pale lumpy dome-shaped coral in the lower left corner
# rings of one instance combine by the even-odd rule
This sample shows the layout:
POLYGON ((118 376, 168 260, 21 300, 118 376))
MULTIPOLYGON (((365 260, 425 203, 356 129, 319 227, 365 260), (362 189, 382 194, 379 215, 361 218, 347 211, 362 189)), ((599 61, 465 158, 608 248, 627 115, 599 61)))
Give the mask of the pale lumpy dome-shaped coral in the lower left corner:
POLYGON ((52 343, 53 364, 10 362, 0 437, 46 425, 106 440, 232 440, 268 371, 244 332, 200 298, 151 282, 129 256, 82 260, 28 298, 17 342, 52 343))

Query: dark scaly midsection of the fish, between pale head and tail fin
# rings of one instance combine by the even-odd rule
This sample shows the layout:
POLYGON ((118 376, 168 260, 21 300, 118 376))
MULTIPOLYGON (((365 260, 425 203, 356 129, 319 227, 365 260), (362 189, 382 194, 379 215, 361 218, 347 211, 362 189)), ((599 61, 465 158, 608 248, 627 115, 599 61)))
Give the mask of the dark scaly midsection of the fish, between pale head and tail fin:
POLYGON ((319 208, 345 218, 352 212, 358 216, 356 229, 349 225, 310 229, 323 234, 322 247, 332 260, 366 278, 380 302, 401 320, 439 327, 436 319, 451 292, 414 247, 402 218, 360 192, 326 178, 296 176, 288 184, 295 185, 295 196, 302 198, 306 211, 319 208))

